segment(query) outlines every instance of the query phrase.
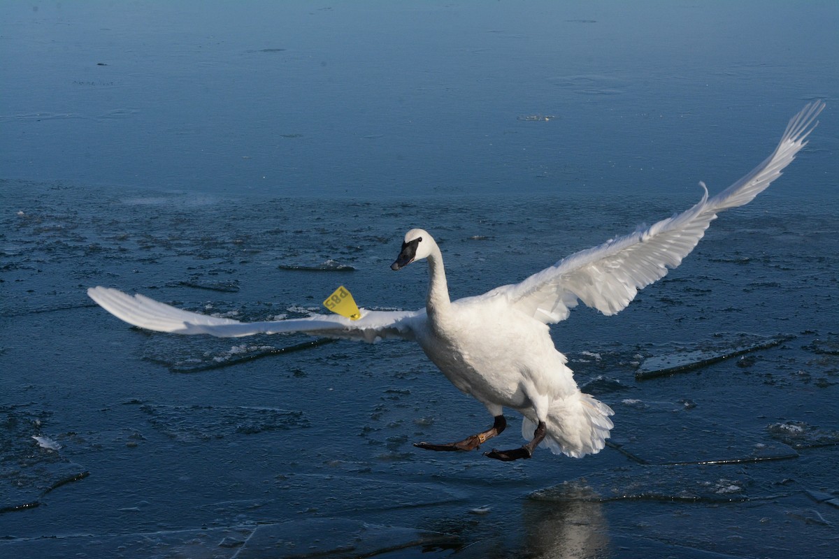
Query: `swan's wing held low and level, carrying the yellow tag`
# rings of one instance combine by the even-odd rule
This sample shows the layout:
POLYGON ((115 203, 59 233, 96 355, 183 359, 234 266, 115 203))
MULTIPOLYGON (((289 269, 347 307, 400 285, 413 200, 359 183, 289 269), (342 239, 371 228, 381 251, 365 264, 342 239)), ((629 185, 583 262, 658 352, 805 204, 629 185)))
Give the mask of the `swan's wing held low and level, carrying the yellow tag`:
POLYGON ((113 314, 140 328, 175 334, 211 334, 238 338, 252 334, 291 334, 300 332, 325 338, 358 339, 374 342, 383 338, 414 339, 414 332, 425 320, 425 311, 368 311, 350 320, 338 315, 313 314, 306 318, 243 323, 191 313, 140 295, 131 296, 110 287, 91 287, 88 296, 113 314))

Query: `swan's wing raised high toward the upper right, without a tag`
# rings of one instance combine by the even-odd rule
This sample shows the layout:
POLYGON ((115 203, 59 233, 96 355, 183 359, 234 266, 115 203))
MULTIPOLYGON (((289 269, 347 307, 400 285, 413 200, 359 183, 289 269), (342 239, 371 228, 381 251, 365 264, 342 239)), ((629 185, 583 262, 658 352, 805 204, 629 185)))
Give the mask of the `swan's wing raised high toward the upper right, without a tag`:
POLYGON ((818 124, 816 116, 824 106, 816 101, 793 116, 772 155, 722 193, 709 199, 706 189, 690 210, 577 252, 524 282, 498 287, 487 296, 505 296, 514 307, 545 323, 568 318, 578 300, 604 314, 618 313, 635 298, 638 289, 679 266, 717 213, 748 204, 780 176, 806 145, 805 139, 818 124))

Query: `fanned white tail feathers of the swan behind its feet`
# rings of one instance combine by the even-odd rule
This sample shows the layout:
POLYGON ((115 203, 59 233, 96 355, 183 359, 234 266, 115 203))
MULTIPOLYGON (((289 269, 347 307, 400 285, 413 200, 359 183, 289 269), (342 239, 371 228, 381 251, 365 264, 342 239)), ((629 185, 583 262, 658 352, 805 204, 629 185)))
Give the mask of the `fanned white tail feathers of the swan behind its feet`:
MULTIPOLYGON (((572 458, 597 454, 606 446, 606 439, 614 427, 609 419, 614 413, 602 401, 581 392, 576 396, 556 400, 550 406, 548 434, 539 446, 572 458)), ((535 430, 536 422, 524 417, 522 436, 531 440, 535 430)))

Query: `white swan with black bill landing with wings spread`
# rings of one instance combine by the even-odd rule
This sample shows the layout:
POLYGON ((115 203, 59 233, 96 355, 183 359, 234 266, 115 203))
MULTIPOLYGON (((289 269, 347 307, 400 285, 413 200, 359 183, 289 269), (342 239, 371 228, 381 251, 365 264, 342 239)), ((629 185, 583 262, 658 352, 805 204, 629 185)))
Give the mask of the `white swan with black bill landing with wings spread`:
MULTIPOLYGON (((600 451, 612 428, 612 410, 583 394, 555 349, 548 323, 568 317, 578 301, 604 314, 618 313, 638 289, 679 266, 721 210, 747 204, 777 179, 805 138, 816 127, 824 103, 805 106, 789 121, 774 152, 721 194, 705 195, 690 210, 645 230, 580 251, 528 277, 471 298, 450 301, 443 257, 434 239, 421 229, 404 237, 393 270, 425 258, 430 287, 423 309, 378 312, 362 309, 362 318, 313 315, 308 318, 241 323, 190 313, 143 295, 91 287, 88 295, 118 318, 141 328, 177 334, 221 337, 305 332, 332 338, 373 342, 382 338, 414 340, 461 391, 487 407, 492 427, 447 444, 416 443, 429 450, 472 450, 503 431, 503 408, 524 416, 520 448, 487 453, 491 458, 530 458, 537 445, 554 453, 581 457, 600 451)), ((705 185, 702 184, 703 189, 705 185)))

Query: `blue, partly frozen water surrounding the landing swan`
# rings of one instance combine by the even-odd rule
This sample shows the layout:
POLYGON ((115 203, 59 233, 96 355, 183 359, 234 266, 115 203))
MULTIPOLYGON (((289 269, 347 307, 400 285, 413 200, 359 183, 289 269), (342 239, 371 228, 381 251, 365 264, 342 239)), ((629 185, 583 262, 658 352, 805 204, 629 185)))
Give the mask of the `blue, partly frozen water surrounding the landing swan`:
POLYGON ((0 555, 826 556, 836 28, 829 2, 3 3, 0 555), (388 269, 414 226, 485 292, 725 188, 813 99, 767 192, 553 327, 616 411, 596 456, 413 448, 489 417, 412 344, 149 334, 85 296, 419 308, 423 268, 388 269), (354 271, 294 270, 327 261, 354 271))

